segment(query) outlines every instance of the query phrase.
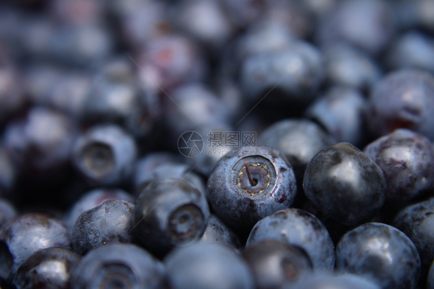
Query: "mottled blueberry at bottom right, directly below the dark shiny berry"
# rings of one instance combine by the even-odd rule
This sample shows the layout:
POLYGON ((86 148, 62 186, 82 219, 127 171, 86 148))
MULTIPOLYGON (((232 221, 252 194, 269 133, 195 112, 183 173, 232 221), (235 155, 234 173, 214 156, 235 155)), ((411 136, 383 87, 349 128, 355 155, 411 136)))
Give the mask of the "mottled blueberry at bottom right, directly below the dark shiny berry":
POLYGON ((397 228, 365 223, 339 241, 336 269, 375 280, 384 289, 411 289, 419 280, 420 259, 414 244, 397 228))

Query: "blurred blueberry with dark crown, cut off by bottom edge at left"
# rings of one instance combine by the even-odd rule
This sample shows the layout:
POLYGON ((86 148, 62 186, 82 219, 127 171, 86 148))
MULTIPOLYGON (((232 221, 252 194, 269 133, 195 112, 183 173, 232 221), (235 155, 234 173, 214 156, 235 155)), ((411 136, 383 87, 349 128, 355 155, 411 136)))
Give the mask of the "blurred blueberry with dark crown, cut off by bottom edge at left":
POLYGON ((89 251, 72 274, 73 289, 161 288, 164 265, 133 244, 109 244, 89 251))

